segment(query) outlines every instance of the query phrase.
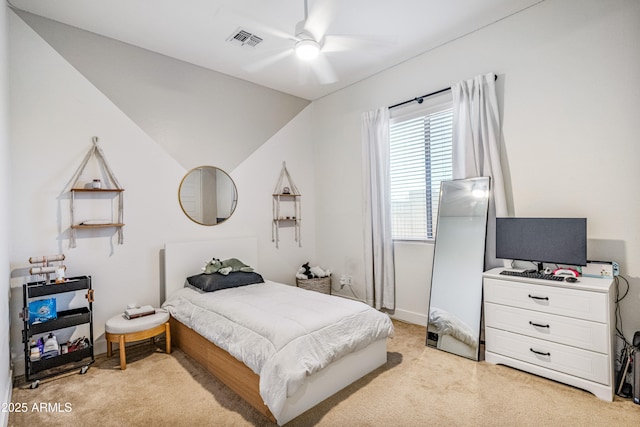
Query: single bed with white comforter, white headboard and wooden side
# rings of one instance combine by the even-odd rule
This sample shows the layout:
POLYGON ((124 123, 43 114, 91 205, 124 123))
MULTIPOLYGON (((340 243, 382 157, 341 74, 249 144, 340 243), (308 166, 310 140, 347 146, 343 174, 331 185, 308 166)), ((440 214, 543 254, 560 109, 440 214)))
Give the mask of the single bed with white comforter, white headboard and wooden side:
POLYGON ((260 271, 255 238, 165 244, 172 341, 270 420, 285 424, 386 363, 393 325, 365 304, 269 280, 207 293, 185 287, 214 256, 260 271), (282 315, 261 317, 274 310, 282 315), (354 337, 335 335, 346 330, 354 337))

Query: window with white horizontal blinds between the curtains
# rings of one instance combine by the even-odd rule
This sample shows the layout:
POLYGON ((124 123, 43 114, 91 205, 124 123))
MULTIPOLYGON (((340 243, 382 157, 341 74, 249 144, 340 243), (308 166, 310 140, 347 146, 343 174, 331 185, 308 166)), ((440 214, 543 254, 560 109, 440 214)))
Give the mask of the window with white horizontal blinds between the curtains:
POLYGON ((452 179, 452 131, 451 103, 392 119, 389 136, 394 240, 435 237, 440 183, 452 179))

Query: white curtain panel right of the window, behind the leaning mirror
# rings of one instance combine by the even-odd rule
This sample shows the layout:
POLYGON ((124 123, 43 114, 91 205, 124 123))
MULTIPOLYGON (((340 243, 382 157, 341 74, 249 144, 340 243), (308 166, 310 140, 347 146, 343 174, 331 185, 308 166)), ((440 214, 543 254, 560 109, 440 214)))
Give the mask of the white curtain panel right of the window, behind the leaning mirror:
POLYGON ((453 179, 491 177, 485 268, 501 267, 495 257, 495 219, 507 216, 500 165, 500 113, 495 74, 451 86, 453 94, 453 179))

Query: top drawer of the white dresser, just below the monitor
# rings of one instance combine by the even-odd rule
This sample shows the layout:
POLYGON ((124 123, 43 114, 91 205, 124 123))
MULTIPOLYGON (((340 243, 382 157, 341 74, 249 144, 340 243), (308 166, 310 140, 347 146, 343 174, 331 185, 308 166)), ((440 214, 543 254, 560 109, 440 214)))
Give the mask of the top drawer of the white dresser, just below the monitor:
POLYGON ((490 303, 577 319, 601 323, 609 321, 607 294, 577 289, 563 289, 560 286, 545 286, 485 278, 484 299, 490 303))

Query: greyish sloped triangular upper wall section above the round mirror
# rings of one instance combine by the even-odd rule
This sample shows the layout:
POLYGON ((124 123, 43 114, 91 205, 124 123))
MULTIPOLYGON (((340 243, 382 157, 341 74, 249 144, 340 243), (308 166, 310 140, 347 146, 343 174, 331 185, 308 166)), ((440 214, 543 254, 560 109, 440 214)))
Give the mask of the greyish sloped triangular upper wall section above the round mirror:
POLYGON ((18 15, 185 168, 230 171, 309 101, 27 12, 18 15), (186 148, 186 149, 185 149, 186 148))

